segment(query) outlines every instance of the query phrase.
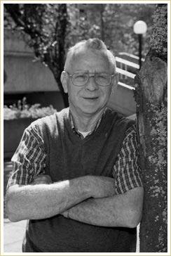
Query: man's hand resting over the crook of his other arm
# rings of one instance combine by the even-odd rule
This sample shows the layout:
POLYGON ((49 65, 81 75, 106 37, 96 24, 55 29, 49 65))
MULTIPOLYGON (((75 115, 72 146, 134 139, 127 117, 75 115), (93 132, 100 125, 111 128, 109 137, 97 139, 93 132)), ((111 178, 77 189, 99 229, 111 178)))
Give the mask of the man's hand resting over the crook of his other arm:
POLYGON ((103 176, 90 176, 90 191, 93 198, 107 198, 115 195, 115 180, 103 176))

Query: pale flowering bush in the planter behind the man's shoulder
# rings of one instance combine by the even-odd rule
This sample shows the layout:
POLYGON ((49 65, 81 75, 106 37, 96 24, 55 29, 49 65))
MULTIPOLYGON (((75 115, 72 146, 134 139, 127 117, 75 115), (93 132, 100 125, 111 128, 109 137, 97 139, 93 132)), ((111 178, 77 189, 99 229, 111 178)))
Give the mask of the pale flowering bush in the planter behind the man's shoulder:
POLYGON ((4 105, 4 120, 13 120, 19 118, 40 118, 46 115, 52 115, 57 112, 53 105, 41 108, 41 104, 36 103, 34 105, 27 104, 27 99, 24 97, 22 101, 18 101, 18 104, 4 105))

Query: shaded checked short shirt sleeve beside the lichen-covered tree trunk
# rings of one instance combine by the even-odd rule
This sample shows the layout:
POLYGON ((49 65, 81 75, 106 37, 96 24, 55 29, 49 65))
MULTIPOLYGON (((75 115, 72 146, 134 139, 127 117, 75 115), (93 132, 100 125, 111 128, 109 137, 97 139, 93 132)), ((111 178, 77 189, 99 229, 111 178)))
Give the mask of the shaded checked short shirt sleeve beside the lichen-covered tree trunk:
POLYGON ((137 134, 135 125, 132 125, 126 132, 121 151, 118 153, 113 169, 116 194, 125 193, 132 188, 142 186, 137 158, 137 134))

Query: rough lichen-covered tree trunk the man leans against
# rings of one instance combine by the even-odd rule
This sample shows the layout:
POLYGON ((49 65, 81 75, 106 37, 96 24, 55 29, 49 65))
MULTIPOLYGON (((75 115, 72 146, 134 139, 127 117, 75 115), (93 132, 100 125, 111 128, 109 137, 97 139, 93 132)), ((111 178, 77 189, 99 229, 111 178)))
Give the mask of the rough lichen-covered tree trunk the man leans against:
POLYGON ((140 252, 167 252, 167 5, 156 5, 150 50, 135 77, 144 181, 140 252))

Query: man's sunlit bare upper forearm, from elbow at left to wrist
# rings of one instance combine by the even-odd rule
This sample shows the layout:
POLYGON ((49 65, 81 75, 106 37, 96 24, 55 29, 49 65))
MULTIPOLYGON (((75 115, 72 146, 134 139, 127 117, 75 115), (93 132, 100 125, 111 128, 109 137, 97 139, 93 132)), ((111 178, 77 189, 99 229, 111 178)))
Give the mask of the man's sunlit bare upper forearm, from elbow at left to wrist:
POLYGON ((90 197, 88 177, 53 184, 8 188, 6 210, 13 222, 21 219, 44 219, 59 214, 90 197))

